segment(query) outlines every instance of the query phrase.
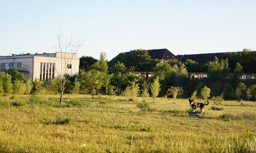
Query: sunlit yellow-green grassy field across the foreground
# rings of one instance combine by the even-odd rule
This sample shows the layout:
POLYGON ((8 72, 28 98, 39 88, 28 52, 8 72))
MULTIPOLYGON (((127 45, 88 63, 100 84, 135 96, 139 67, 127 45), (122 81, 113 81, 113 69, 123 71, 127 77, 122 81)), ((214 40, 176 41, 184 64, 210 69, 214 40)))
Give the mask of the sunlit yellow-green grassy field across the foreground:
POLYGON ((0 152, 256 152, 256 102, 210 101, 197 117, 188 99, 147 99, 145 112, 142 101, 64 95, 59 108, 58 95, 1 96, 0 152))

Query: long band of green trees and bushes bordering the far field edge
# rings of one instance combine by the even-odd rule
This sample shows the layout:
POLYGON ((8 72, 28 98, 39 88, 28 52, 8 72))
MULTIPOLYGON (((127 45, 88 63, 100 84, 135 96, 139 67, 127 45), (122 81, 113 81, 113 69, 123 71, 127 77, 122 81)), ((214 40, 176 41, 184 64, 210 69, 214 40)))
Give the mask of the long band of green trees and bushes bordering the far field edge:
MULTIPOLYGON (((243 52, 247 53, 248 50, 243 52)), ((229 54, 227 53, 227 55, 229 54)), ((239 76, 244 73, 243 62, 241 64, 237 62, 233 69, 229 66, 229 61, 233 59, 229 58, 219 61, 215 57, 207 64, 197 64, 190 59, 184 63, 177 59, 164 62, 151 59, 148 52, 143 49, 131 52, 126 60, 129 61, 129 64, 117 61, 110 65, 105 53, 101 53, 99 59, 81 57, 79 75, 69 77, 64 93, 91 94, 93 96, 96 94, 123 95, 131 99, 135 96, 152 96, 153 99, 157 96, 187 98, 191 95, 203 97, 202 90, 209 88, 209 97, 222 95, 225 99, 256 99, 255 82, 239 82, 239 76), (140 58, 145 60, 139 60, 140 58), (147 70, 147 68, 151 69, 154 74, 149 80, 144 76, 129 73, 131 70, 141 71, 147 70), (206 81, 199 82, 189 79, 188 71, 194 71, 197 68, 207 70, 209 78, 206 81), (234 73, 233 78, 227 77, 230 72, 234 73)), ((34 82, 26 81, 22 74, 12 69, 6 74, 1 74, 0 92, 7 94, 58 94, 60 79, 49 79, 47 82, 39 79, 35 79, 34 82)))

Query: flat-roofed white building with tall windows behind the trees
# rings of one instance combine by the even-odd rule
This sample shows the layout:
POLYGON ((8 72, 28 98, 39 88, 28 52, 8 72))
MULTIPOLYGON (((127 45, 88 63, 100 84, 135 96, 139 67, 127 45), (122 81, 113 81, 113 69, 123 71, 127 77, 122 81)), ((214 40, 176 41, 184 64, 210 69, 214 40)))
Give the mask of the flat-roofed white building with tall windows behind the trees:
POLYGON ((5 73, 11 68, 17 69, 26 79, 35 78, 48 80, 58 77, 65 70, 70 75, 78 75, 79 58, 72 53, 44 53, 44 54, 12 54, 12 56, 0 56, 0 73, 5 73))

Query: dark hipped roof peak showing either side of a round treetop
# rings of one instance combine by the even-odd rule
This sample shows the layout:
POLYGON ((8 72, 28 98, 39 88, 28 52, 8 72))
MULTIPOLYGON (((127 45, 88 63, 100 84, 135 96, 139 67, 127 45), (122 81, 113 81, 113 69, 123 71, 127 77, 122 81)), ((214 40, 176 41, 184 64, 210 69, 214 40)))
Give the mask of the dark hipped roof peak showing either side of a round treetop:
MULTIPOLYGON (((123 62, 125 60, 125 58, 127 58, 132 51, 133 50, 128 51, 128 52, 122 52, 122 53, 118 54, 116 57, 111 59, 111 61, 109 61, 109 65, 114 65, 117 61, 123 62)), ((177 57, 174 54, 172 54, 172 52, 170 52, 166 48, 150 49, 150 50, 147 50, 147 51, 148 51, 148 54, 151 57, 151 59, 162 59, 166 62, 169 59, 177 59, 177 57)))

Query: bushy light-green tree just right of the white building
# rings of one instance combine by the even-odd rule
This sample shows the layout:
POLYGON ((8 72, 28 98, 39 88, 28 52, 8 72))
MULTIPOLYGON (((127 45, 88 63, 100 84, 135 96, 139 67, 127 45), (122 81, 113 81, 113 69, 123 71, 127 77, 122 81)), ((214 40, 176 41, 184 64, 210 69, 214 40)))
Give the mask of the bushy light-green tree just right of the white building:
POLYGON ((78 81, 81 84, 81 90, 89 94, 96 94, 103 86, 102 73, 96 70, 81 71, 78 76, 78 81))

